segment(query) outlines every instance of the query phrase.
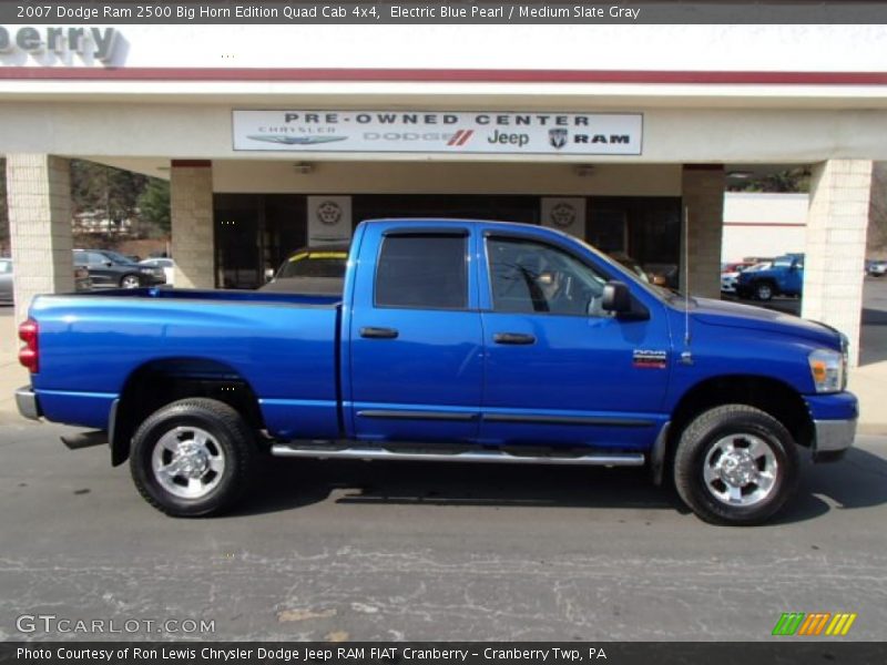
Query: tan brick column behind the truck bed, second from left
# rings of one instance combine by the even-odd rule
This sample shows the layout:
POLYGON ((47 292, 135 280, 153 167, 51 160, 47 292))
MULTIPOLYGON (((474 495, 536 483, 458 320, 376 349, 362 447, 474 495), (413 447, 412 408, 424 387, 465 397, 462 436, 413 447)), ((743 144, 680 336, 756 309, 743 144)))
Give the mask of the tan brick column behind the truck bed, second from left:
POLYGON ((212 162, 173 160, 170 213, 176 288, 215 288, 212 162))

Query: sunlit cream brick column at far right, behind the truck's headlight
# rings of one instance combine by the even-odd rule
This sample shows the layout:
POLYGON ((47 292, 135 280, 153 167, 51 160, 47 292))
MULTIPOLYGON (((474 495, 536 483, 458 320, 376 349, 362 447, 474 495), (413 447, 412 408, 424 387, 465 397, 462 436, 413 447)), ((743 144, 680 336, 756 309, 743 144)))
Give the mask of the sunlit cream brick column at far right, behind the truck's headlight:
POLYGON ((813 168, 801 314, 844 332, 854 367, 859 362, 870 193, 868 160, 829 160, 813 168))

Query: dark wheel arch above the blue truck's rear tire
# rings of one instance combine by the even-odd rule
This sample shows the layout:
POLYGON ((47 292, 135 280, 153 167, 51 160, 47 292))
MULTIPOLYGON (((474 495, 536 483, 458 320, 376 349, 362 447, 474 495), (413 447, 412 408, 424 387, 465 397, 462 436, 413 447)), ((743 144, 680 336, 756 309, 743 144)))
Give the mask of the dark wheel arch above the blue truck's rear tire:
POLYGON ((128 377, 112 407, 109 427, 111 463, 129 459, 139 424, 167 403, 206 397, 238 411, 254 430, 265 428, 253 387, 233 367, 207 358, 164 358, 146 362, 128 377))

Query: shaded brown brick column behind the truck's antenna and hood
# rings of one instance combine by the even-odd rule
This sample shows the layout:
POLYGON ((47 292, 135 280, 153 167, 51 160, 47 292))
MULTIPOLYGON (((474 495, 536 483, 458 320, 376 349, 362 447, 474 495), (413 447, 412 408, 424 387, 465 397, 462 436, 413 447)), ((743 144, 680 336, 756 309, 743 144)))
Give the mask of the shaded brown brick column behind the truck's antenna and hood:
MULTIPOLYGON (((685 164, 681 182, 682 209, 689 208, 687 239, 681 238, 681 289, 684 285, 684 248, 689 243, 690 293, 721 297, 721 243, 724 234, 724 186, 721 164, 685 164)), ((683 228, 683 227, 682 227, 683 228)))

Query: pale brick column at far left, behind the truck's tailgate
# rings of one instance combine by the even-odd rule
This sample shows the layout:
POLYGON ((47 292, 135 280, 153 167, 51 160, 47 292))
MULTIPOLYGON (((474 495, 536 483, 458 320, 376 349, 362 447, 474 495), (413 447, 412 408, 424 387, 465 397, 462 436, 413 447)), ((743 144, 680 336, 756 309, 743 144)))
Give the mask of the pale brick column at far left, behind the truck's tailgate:
POLYGON ((21 321, 35 295, 74 290, 70 162, 8 154, 7 200, 16 320, 21 321))

